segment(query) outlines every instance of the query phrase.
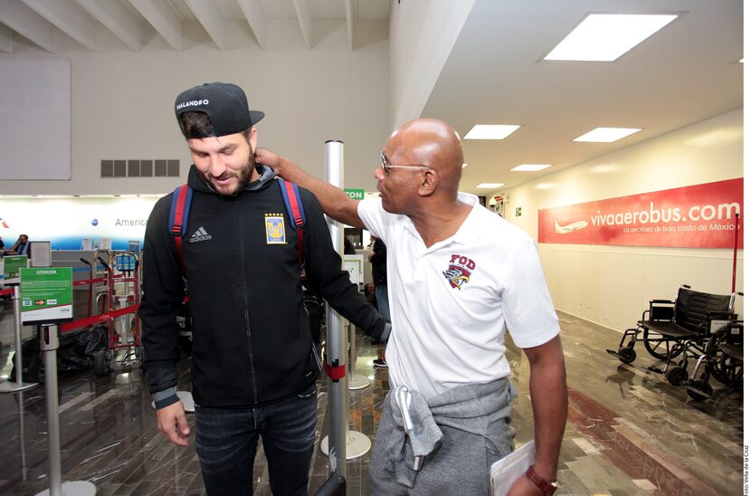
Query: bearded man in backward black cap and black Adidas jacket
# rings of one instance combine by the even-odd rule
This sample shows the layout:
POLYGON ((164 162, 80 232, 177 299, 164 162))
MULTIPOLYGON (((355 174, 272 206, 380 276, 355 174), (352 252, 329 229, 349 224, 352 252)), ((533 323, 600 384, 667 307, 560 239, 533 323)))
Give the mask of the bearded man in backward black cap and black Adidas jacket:
MULTIPOLYGON (((194 326, 195 451, 206 491, 251 494, 261 437, 271 491, 307 494, 321 365, 282 186, 271 168, 253 161, 254 125, 264 114, 248 110, 239 87, 221 82, 184 91, 175 110, 194 160, 186 239, 178 253, 168 227, 173 195, 161 198, 147 224, 139 310, 159 429, 188 445, 190 429, 176 396, 174 325, 185 278, 194 326)), ((308 283, 347 320, 386 339, 390 325, 341 270, 318 201, 305 189, 299 196, 308 283)))

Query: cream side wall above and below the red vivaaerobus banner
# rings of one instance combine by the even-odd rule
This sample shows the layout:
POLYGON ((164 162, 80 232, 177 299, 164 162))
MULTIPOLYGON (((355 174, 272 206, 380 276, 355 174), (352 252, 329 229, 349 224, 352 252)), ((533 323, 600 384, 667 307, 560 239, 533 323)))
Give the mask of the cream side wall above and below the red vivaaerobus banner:
MULTIPOLYGON (((739 109, 504 190, 506 217, 537 239, 538 209, 742 176, 739 109), (522 216, 515 217, 518 206, 522 216)), ((545 243, 539 252, 558 310, 619 331, 633 327, 649 300, 672 299, 680 284, 730 291, 732 250, 545 243)), ((737 291, 743 291, 742 250, 737 291)))

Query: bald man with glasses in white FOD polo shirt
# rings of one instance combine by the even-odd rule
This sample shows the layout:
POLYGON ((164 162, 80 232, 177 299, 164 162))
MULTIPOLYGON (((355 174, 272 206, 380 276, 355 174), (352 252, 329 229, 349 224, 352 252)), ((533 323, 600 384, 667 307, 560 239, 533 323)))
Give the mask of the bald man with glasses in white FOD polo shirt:
POLYGON ((490 465, 514 448, 507 331, 529 360, 537 448, 509 494, 555 492, 567 410, 558 320, 532 238, 459 192, 456 131, 435 119, 397 129, 374 174, 381 197, 362 201, 270 150, 256 160, 386 244, 390 391, 373 493, 488 494, 490 465))

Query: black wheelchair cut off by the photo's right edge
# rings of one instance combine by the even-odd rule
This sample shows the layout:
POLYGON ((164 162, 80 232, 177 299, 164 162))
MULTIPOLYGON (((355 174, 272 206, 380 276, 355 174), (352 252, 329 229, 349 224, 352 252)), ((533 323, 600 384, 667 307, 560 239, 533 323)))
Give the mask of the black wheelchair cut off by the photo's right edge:
POLYGON ((705 353, 683 383, 692 399, 704 401, 712 397, 710 376, 732 390, 743 391, 743 320, 730 320, 708 339, 705 353))

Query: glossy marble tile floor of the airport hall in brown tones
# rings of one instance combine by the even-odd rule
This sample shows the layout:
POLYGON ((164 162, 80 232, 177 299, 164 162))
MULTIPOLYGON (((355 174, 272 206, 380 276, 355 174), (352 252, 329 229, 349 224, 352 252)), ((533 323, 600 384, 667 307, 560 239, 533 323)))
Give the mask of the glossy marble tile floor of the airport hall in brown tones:
MULTIPOLYGON (((8 305, 0 321, 12 319, 8 305)), ((559 461, 558 494, 672 495, 742 493, 743 398, 718 383, 715 395, 697 402, 684 389, 647 371, 654 359, 637 345, 623 365, 604 352, 620 335, 559 314, 566 354, 570 407, 559 461)), ((638 316, 637 316, 638 317, 638 316)), ((3 341, 0 368, 9 370, 12 339, 3 341), (10 346, 9 346, 10 345, 10 346)), ((388 369, 373 368, 383 345, 358 335, 356 373, 371 386, 349 395, 351 428, 375 436, 388 369)), ((518 443, 531 439, 526 358, 509 345, 518 390, 514 426, 518 443)), ((181 363, 188 388, 189 358, 181 363)), ((325 381, 324 381, 325 383, 325 381)), ((327 386, 319 387, 318 436, 328 434, 327 386)), ((60 380, 63 480, 94 482, 100 495, 204 494, 194 444, 167 444, 157 430, 140 370, 96 377, 92 371, 60 380)), ((48 487, 44 389, 0 395, 0 494, 31 495, 48 487)), ((190 420, 192 424, 192 419, 190 420)), ((317 449, 310 493, 328 476, 317 449)), ((370 494, 369 454, 347 462, 347 494, 370 494)), ((271 494, 262 453, 254 463, 257 495, 271 494)))

